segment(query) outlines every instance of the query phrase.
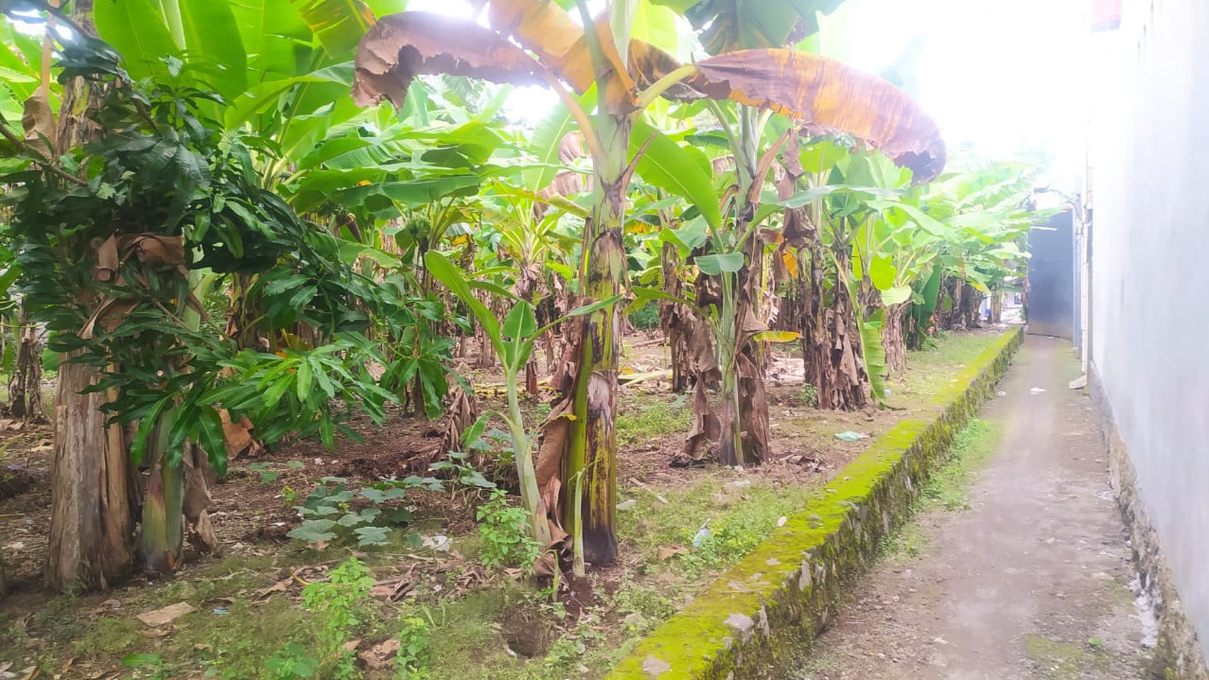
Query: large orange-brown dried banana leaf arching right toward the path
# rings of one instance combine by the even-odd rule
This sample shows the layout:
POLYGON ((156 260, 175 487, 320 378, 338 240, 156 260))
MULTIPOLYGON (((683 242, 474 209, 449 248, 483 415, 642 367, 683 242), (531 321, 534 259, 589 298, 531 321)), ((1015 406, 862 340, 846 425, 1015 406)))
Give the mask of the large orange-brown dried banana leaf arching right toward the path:
POLYGON ((805 122, 814 134, 849 133, 878 149, 915 182, 944 169, 944 139, 914 99, 833 59, 793 50, 742 50, 696 64, 688 80, 711 99, 733 99, 805 122))

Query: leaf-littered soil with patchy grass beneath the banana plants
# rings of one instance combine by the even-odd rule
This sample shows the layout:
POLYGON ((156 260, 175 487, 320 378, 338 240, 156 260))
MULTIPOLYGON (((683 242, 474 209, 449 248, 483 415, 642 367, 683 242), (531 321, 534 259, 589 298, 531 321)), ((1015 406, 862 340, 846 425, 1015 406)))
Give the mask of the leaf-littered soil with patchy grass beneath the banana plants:
MULTIPOLYGON (((770 376, 773 460, 754 470, 716 464, 671 469, 689 428, 690 399, 648 379, 619 395, 618 533, 621 560, 590 569, 586 579, 557 587, 533 583, 516 570, 488 570, 479 559, 475 508, 482 494, 410 489, 413 518, 386 548, 358 551, 332 545, 312 550, 287 533, 299 525, 293 510, 323 477, 369 484, 383 477, 426 473, 439 446, 438 423, 392 413, 382 428, 358 420, 363 442, 340 441, 329 452, 294 442, 254 459, 237 459, 214 489, 210 507, 222 541, 218 556, 186 554, 168 581, 133 579, 106 593, 54 595, 41 589, 50 524, 51 432, 47 428, 0 430, 0 465, 30 473, 30 483, 5 493, 0 486, 0 550, 16 592, 0 600, 0 678, 37 669, 63 678, 131 676, 121 666, 131 653, 156 653, 164 676, 253 678, 264 662, 305 629, 302 585, 323 580, 349 556, 374 569, 375 620, 363 627, 368 647, 394 634, 403 614, 422 616, 433 629, 434 678, 596 678, 632 640, 652 629, 775 529, 779 518, 860 454, 869 438, 837 440, 852 430, 869 437, 885 431, 945 384, 997 333, 959 333, 910 355, 910 370, 891 382, 890 409, 835 413, 806 405, 800 360, 780 356, 770 376), (711 537, 695 545, 707 525, 711 537), (421 547, 423 537, 450 536, 452 547, 421 547), (139 614, 190 603, 198 611, 163 627, 139 614)), ((626 372, 666 367, 664 348, 638 336, 627 342, 626 372), (637 347, 631 347, 637 345, 637 347)), ((474 371, 476 385, 498 382, 474 371)), ((527 405, 537 423, 549 395, 527 405)), ((481 409, 498 409, 487 396, 481 409)), ((507 466, 496 470, 513 483, 507 466)), ((488 473, 488 476, 492 476, 488 473)), ((137 675, 137 674, 135 674, 137 675)))

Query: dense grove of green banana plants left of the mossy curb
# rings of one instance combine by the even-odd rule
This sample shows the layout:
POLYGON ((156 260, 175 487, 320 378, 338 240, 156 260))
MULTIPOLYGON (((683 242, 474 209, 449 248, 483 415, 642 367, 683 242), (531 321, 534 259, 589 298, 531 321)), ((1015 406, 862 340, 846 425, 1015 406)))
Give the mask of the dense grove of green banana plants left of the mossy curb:
POLYGON ((406 5, 0 2, 0 293, 58 355, 48 587, 169 574, 218 547, 230 458, 400 413, 484 482, 462 449, 503 423, 533 571, 583 575, 619 559, 641 310, 693 405, 669 463, 752 467, 775 356, 817 408, 883 407, 1019 285, 1034 169, 950 161, 818 54, 839 0, 406 5))

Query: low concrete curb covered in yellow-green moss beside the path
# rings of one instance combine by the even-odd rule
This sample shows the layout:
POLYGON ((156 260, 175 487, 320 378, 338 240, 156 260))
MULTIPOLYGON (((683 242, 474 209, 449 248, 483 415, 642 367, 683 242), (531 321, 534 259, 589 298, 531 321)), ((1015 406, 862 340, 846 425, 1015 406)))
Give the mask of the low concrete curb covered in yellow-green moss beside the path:
POLYGON ((901 420, 802 512, 638 643, 606 680, 741 680, 779 670, 827 627, 840 594, 902 522, 953 436, 994 394, 1023 342, 1012 329, 921 419, 901 420))

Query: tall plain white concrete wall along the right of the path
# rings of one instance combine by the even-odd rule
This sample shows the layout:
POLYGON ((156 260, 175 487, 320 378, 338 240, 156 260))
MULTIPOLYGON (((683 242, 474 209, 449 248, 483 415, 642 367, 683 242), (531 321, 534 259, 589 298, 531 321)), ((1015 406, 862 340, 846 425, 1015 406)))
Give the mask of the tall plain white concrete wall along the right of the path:
POLYGON ((1126 0, 1094 101, 1092 362, 1209 655, 1209 0, 1126 0))

